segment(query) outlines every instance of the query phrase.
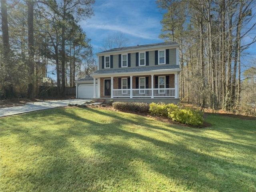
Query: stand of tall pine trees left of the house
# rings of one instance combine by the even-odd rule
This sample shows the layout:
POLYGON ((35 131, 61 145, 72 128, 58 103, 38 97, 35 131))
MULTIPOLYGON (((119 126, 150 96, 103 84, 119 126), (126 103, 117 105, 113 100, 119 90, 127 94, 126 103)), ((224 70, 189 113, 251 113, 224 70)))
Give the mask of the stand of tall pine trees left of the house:
POLYGON ((43 76, 56 73, 58 95, 96 70, 90 39, 78 25, 93 15, 94 0, 1 0, 1 94, 38 94, 43 76), (42 67, 43 65, 43 67, 42 67), (43 71, 40 71, 42 68, 43 71), (18 88, 17 88, 18 87, 18 88))

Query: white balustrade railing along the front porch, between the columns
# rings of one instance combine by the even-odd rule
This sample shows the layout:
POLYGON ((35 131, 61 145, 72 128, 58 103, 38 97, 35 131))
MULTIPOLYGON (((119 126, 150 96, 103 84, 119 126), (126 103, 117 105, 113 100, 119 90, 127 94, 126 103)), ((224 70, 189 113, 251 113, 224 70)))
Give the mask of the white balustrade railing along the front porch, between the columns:
MULTIPOLYGON (((130 89, 113 89, 113 97, 130 97, 130 89)), ((152 89, 132 89, 132 98, 150 97, 152 89)), ((175 88, 153 89, 153 97, 175 97, 175 88)))

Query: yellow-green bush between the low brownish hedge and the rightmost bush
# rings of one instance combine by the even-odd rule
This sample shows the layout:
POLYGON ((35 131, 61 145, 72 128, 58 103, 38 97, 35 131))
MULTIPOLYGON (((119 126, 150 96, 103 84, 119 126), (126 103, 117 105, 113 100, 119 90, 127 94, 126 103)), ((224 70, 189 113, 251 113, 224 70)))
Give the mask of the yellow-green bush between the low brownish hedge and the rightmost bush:
POLYGON ((148 111, 151 115, 168 117, 168 111, 173 111, 173 110, 176 110, 177 108, 179 107, 175 104, 164 104, 164 103, 156 104, 152 102, 149 104, 148 111))

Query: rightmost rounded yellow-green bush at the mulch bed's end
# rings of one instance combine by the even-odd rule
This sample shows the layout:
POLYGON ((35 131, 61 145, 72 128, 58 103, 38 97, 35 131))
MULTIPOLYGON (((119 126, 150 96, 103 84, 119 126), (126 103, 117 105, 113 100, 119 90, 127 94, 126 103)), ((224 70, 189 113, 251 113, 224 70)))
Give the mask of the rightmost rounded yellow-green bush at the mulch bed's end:
POLYGON ((168 112, 169 118, 183 124, 198 126, 203 124, 203 114, 199 110, 180 109, 168 112))

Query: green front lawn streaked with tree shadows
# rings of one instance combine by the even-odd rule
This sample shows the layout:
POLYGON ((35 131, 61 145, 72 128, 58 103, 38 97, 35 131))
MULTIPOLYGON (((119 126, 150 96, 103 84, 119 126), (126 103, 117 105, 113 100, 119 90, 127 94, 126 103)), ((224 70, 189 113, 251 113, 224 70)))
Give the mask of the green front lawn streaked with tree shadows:
POLYGON ((0 191, 255 192, 256 121, 206 121, 92 108, 0 118, 0 191))

